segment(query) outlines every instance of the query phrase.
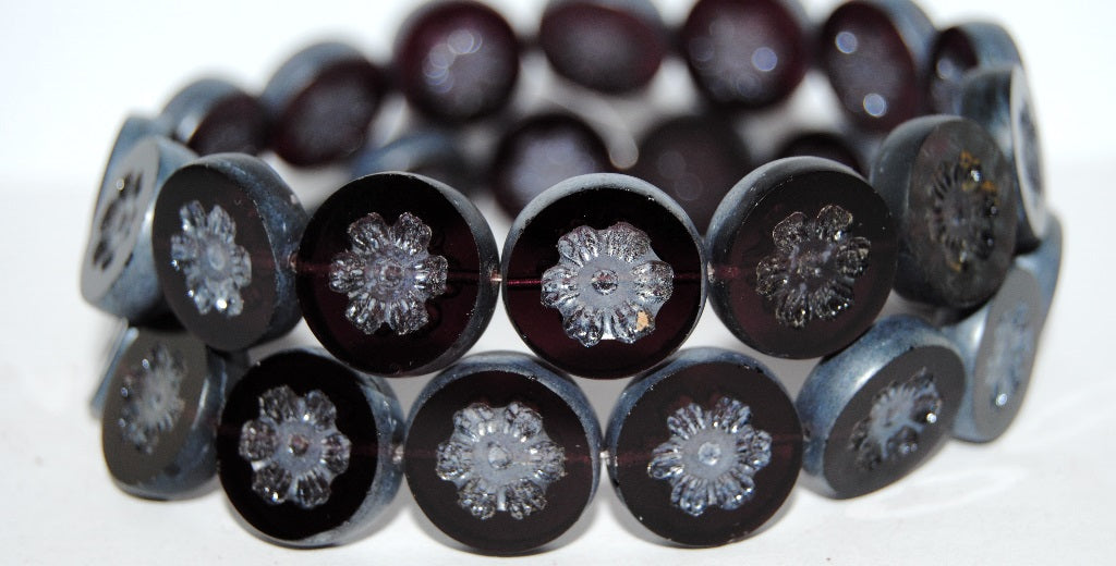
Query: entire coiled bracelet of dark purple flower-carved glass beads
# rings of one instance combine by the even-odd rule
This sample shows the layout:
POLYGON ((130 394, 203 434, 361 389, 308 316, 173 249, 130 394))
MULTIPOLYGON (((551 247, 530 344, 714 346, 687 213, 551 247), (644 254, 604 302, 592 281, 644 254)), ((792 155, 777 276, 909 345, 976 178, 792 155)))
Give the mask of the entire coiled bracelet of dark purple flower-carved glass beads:
POLYGON ((318 547, 366 536, 405 476, 444 534, 521 554, 577 521, 604 468, 644 527, 715 546, 775 516, 799 469, 855 497, 949 436, 998 438, 1061 253, 1018 50, 906 0, 805 29, 788 0, 699 0, 672 48, 650 2, 556 0, 527 40, 452 0, 403 25, 389 70, 318 43, 258 97, 204 79, 128 118, 81 266, 85 299, 127 321, 94 402, 114 481, 181 499, 215 476, 247 529, 318 547), (628 166, 573 103, 485 142, 529 48, 591 104, 638 96, 673 49, 703 110, 647 128, 628 166), (753 168, 728 124, 777 111, 811 58, 844 135, 788 136, 753 168), (420 118, 368 142, 396 90, 420 118), (355 178, 308 213, 263 150, 355 178), (482 186, 516 216, 502 253, 482 186), (893 289, 922 316, 881 318, 893 289), (500 295, 537 358, 461 359, 500 295), (744 353, 679 350, 706 295, 750 349, 820 359, 797 399, 744 353), (249 359, 299 320, 324 351, 249 359), (404 419, 384 378, 435 372, 404 419), (606 430, 570 375, 632 378, 606 430))

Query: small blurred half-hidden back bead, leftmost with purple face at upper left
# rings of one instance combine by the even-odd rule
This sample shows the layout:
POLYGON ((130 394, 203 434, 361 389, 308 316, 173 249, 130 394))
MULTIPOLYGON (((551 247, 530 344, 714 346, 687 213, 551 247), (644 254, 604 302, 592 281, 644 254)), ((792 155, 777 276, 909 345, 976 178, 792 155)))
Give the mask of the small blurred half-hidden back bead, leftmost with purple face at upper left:
POLYGON ((198 155, 258 154, 268 144, 268 119, 256 97, 223 79, 204 78, 182 88, 160 115, 174 139, 198 155))

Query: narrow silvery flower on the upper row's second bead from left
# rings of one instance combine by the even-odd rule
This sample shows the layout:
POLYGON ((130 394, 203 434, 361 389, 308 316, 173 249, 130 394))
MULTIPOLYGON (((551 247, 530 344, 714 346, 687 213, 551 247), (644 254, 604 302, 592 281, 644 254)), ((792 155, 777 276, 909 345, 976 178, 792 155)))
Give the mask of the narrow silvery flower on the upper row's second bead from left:
POLYGON ((199 314, 243 312, 240 290, 252 282, 252 261, 238 245, 237 224, 221 205, 205 213, 198 201, 179 208, 182 232, 171 236, 171 265, 186 279, 186 296, 199 314))

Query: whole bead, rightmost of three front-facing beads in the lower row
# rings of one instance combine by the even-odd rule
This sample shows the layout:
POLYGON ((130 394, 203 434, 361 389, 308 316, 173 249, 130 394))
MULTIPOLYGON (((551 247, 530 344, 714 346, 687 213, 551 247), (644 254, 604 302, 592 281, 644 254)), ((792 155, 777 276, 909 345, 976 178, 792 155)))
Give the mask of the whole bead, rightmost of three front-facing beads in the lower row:
POLYGON ((683 545, 758 529, 802 462, 802 428, 782 384, 760 362, 714 348, 683 350, 628 383, 605 438, 624 505, 683 545))

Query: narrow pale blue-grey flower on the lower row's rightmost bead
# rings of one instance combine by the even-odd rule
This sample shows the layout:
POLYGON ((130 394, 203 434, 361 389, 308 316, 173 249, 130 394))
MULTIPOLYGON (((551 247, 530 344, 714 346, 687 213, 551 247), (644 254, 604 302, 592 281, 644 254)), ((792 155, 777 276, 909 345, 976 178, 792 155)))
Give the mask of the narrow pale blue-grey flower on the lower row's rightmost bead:
POLYGON ((992 407, 1000 409, 1016 397, 1027 380, 1027 360, 1035 349, 1035 330, 1027 303, 1004 311, 995 322, 995 339, 988 357, 984 379, 992 407))

